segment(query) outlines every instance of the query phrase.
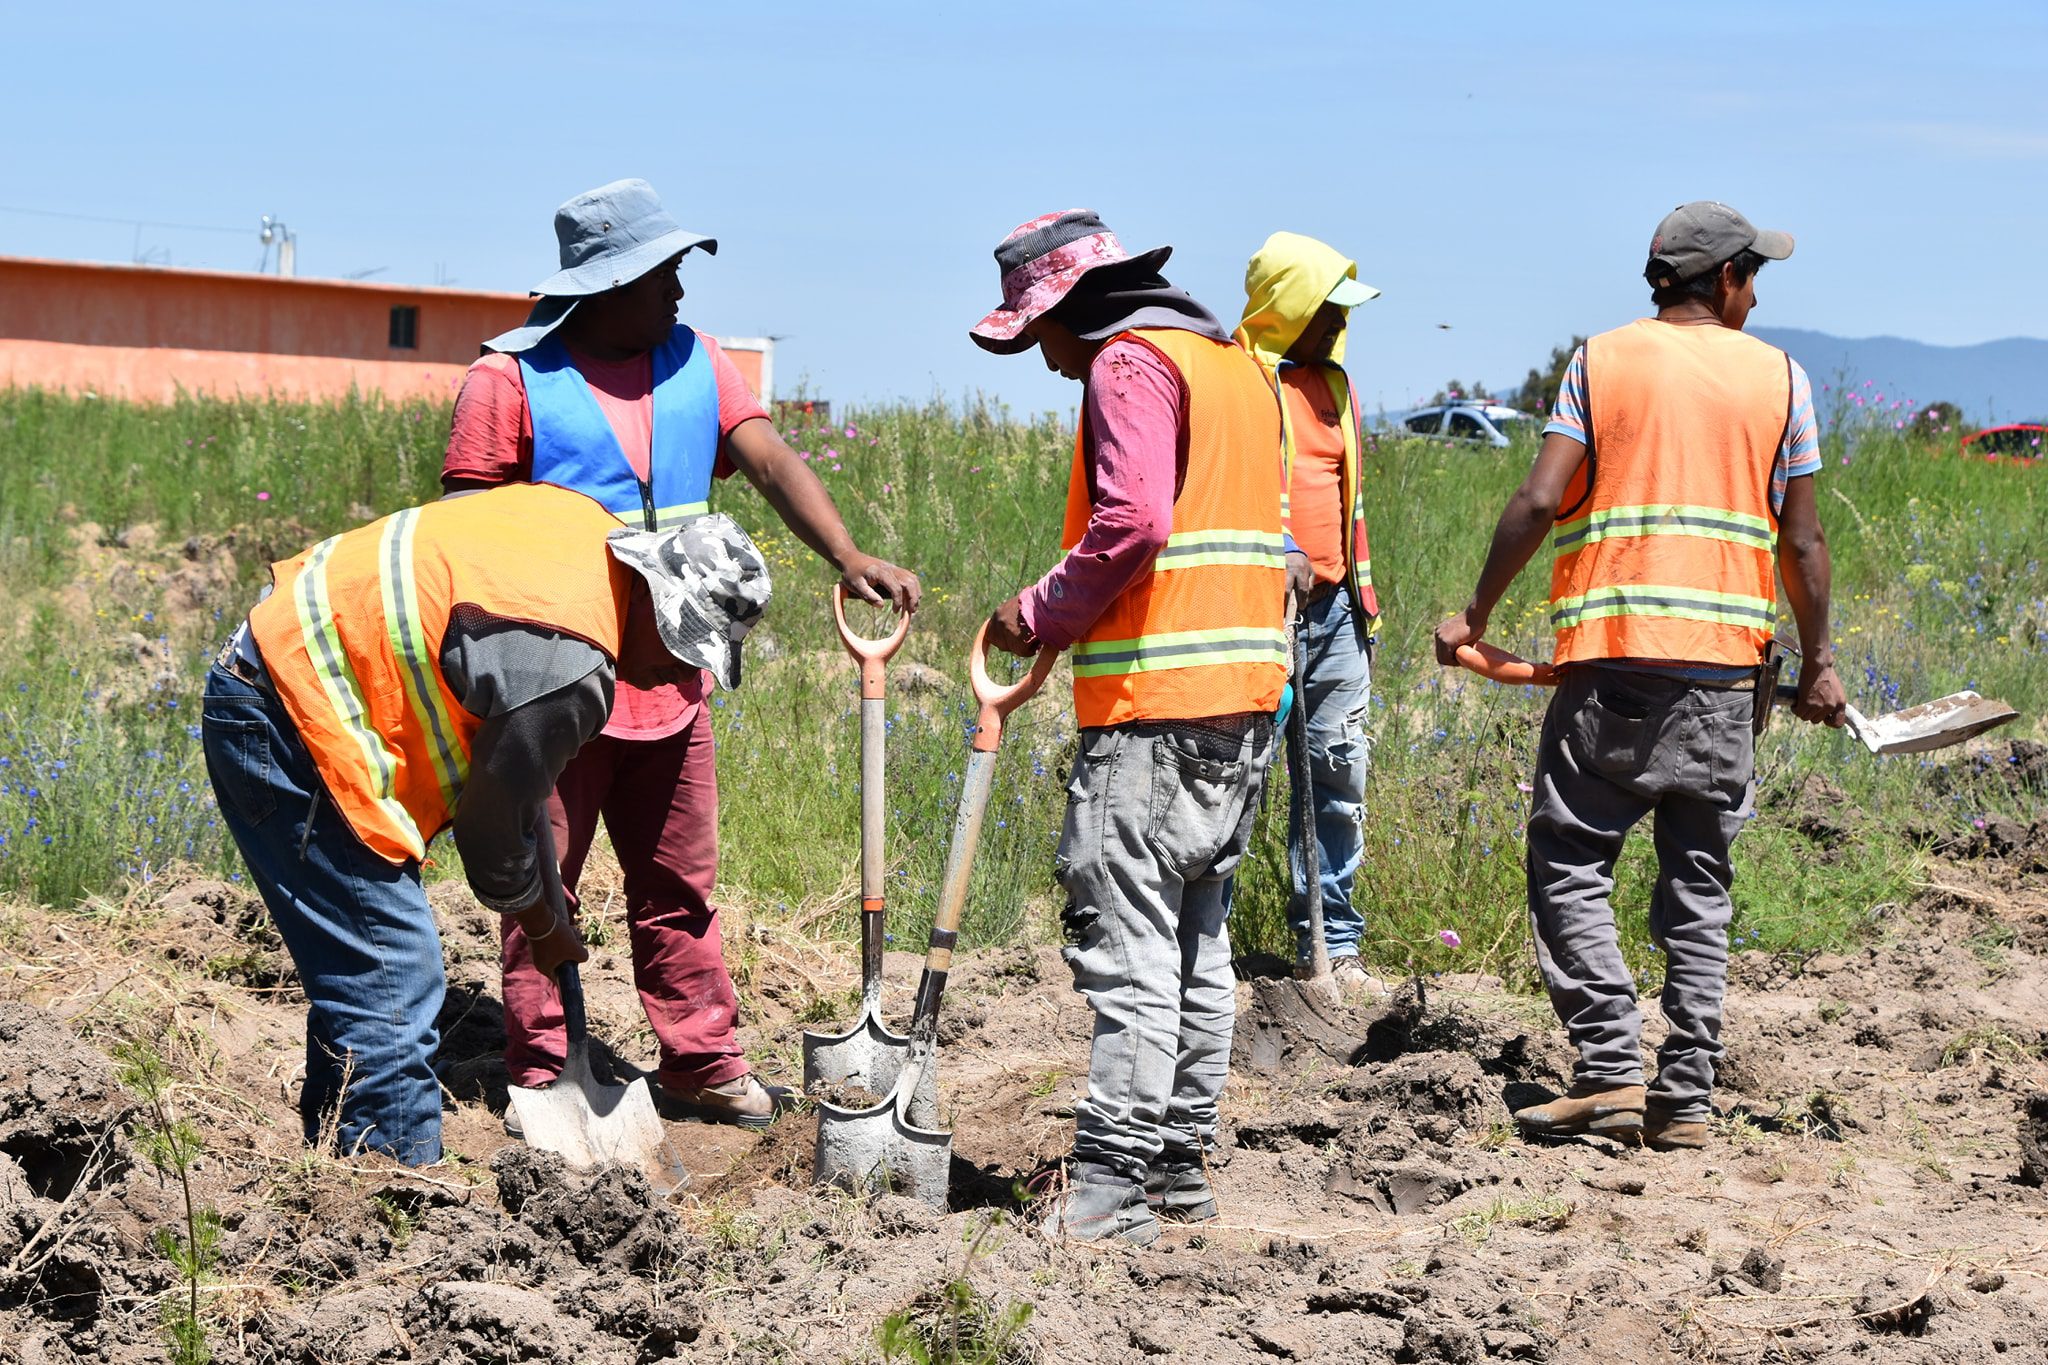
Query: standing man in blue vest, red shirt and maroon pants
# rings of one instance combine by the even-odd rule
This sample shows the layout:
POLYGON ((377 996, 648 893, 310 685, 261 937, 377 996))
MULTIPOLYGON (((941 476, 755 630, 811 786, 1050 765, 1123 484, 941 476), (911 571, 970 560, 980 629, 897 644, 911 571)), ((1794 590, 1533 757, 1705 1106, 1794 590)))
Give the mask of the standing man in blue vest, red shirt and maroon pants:
MULTIPOLYGON (((666 530, 709 510, 713 479, 741 473, 848 591, 918 610, 918 575, 854 544, 733 362, 678 319, 682 258, 719 244, 680 227, 645 180, 561 205, 555 237, 561 270, 535 289, 526 325, 485 342, 469 366, 442 487, 559 483, 629 526, 666 530)), ((711 905, 719 788, 705 688, 702 673, 653 690, 618 684, 610 722, 563 769, 549 810, 571 892, 600 817, 612 837, 662 1091, 698 1117, 760 1128, 780 1091, 739 1052, 711 905)), ((532 968, 524 931, 506 925, 506 1070, 512 1085, 547 1085, 565 1054, 561 1005, 532 968)))

